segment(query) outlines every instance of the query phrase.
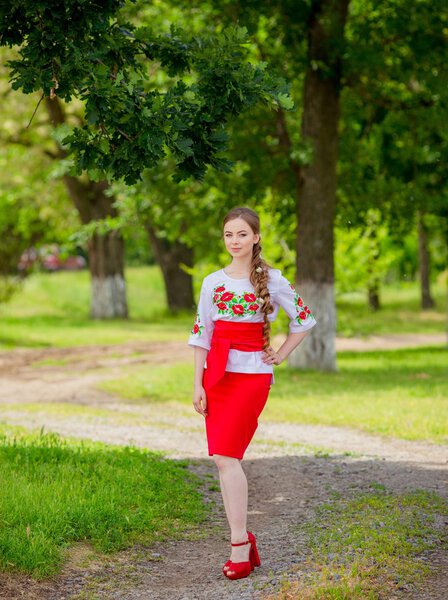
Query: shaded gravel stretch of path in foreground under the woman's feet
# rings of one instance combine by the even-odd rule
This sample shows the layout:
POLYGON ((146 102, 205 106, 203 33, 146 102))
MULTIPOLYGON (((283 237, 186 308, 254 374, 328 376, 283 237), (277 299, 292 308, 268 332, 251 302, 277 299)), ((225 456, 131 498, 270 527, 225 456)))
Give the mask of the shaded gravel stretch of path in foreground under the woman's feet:
MULTIPOLYGON (((249 528, 258 538, 262 566, 251 577, 228 581, 221 566, 228 558, 228 534, 215 467, 210 460, 191 461, 204 481, 210 516, 188 539, 134 547, 113 556, 89 558, 88 546, 75 547, 72 560, 56 578, 35 582, 4 577, 0 597, 8 600, 248 600, 275 594, 283 580, 304 575, 307 557, 302 525, 334 493, 366 493, 377 484, 393 493, 416 489, 448 499, 447 472, 441 465, 421 467, 384 459, 331 455, 260 458, 243 463, 249 480, 249 528)), ((443 523, 440 525, 443 527, 443 523)), ((433 574, 424 591, 412 585, 390 598, 445 600, 448 560, 438 548, 425 557, 433 574)))

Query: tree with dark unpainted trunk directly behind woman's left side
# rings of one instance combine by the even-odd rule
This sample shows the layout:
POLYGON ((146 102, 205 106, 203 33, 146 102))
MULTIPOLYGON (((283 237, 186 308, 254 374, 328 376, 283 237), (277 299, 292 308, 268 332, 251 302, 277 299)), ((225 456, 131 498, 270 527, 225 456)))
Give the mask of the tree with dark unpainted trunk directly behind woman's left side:
MULTIPOLYGON (((237 187, 239 169, 225 175, 210 171, 203 183, 176 183, 172 171, 173 165, 164 160, 147 169, 142 181, 134 186, 115 184, 120 216, 110 226, 146 231, 162 271, 169 309, 191 310, 194 265, 218 257, 219 220, 228 210, 228 196, 237 187)), ((237 193, 234 198, 236 202, 237 193)))

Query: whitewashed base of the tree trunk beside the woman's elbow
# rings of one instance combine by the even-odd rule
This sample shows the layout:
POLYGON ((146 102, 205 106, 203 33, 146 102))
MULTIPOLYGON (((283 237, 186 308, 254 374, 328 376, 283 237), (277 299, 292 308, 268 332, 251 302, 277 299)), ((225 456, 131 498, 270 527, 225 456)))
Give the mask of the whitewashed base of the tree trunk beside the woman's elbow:
POLYGON ((288 365, 298 369, 336 371, 336 306, 334 285, 302 281, 297 289, 317 321, 311 332, 288 357, 288 365))

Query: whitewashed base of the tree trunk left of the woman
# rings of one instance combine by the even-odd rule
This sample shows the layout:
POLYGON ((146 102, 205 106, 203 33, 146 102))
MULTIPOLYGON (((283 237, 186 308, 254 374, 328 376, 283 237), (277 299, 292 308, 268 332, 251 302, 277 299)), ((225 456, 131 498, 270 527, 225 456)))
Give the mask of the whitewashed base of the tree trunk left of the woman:
POLYGON ((93 319, 126 319, 126 283, 120 274, 92 277, 90 316, 93 319))

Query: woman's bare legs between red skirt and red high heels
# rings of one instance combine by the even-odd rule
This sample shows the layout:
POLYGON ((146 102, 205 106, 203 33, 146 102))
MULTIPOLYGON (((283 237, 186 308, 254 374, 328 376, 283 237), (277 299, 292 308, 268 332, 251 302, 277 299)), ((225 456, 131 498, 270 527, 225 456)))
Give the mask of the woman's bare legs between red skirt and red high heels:
MULTIPOLYGON (((219 470, 221 493, 230 526, 232 543, 247 540, 247 479, 240 461, 230 456, 213 455, 219 470)), ((230 560, 246 562, 249 560, 250 545, 232 547, 230 560)), ((229 571, 231 574, 231 571, 229 571)))

